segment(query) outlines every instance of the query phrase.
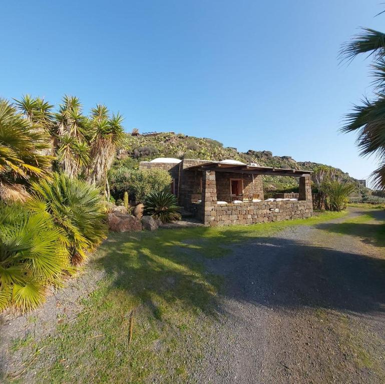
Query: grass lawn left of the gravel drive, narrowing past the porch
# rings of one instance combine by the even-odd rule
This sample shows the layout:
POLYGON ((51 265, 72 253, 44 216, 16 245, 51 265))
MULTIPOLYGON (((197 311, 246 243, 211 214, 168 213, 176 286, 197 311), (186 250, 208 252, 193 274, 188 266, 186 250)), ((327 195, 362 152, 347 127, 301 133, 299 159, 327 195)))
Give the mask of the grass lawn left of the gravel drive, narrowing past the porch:
POLYGON ((183 382, 204 357, 200 350, 216 319, 221 279, 206 272, 205 259, 224 256, 229 243, 344 214, 111 233, 90 261, 106 277, 82 299, 77 319, 61 318, 56 331, 40 340, 15 340, 12 347, 23 349, 25 361, 8 379, 24 382, 23 375, 33 370, 39 383, 183 382))

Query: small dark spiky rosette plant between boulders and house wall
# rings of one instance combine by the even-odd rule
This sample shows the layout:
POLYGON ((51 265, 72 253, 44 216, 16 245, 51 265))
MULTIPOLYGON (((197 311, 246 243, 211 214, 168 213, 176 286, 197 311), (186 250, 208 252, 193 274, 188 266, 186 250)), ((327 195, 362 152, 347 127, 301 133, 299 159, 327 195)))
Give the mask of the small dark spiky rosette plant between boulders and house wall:
POLYGON ((180 220, 179 210, 176 196, 169 192, 153 192, 144 200, 145 213, 159 218, 162 222, 180 220))

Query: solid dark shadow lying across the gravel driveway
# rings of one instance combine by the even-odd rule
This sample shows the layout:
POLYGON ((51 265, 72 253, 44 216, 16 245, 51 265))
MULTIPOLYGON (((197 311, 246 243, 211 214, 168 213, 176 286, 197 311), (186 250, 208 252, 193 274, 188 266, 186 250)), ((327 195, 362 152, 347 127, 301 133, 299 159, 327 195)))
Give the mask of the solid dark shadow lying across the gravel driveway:
POLYGON ((282 309, 385 310, 385 260, 280 238, 233 247, 227 262, 210 262, 226 276, 228 297, 282 309))

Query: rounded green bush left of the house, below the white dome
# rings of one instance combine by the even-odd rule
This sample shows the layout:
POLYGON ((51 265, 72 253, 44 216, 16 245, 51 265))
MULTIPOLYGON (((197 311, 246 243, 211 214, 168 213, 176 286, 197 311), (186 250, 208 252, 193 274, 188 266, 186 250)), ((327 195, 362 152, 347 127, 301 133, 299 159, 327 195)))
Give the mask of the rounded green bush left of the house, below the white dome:
POLYGON ((128 169, 119 168, 111 176, 111 189, 123 195, 128 192, 136 202, 143 202, 151 192, 160 192, 168 188, 172 178, 164 169, 128 169))

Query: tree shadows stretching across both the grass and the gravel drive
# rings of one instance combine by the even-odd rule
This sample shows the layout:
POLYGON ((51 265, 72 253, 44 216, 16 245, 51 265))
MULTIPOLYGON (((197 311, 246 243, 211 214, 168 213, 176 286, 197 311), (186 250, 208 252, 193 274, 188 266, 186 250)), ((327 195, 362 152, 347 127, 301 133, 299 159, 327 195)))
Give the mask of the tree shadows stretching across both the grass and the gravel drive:
POLYGON ((110 288, 135 295, 155 317, 162 303, 213 315, 221 310, 218 289, 228 298, 281 308, 384 309, 385 260, 255 237, 250 226, 113 234, 103 248, 99 262, 112 277, 110 288))

